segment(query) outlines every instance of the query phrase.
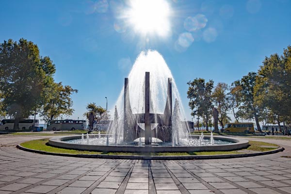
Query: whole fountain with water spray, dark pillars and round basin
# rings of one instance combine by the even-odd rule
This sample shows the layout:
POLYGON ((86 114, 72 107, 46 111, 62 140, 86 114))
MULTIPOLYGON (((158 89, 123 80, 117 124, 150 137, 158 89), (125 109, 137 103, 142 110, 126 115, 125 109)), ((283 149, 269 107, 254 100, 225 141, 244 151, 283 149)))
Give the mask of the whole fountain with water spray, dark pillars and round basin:
MULTIPOLYGON (((157 51, 142 52, 124 80, 107 134, 50 139, 52 146, 95 151, 190 152, 231 150, 248 142, 189 135, 184 110, 169 67, 157 51), (172 99, 175 99, 174 109, 172 99), (120 113, 120 114, 118 114, 120 113)), ((113 111, 112 111, 113 112, 113 111)), ((82 135, 83 136, 83 135, 82 135)))

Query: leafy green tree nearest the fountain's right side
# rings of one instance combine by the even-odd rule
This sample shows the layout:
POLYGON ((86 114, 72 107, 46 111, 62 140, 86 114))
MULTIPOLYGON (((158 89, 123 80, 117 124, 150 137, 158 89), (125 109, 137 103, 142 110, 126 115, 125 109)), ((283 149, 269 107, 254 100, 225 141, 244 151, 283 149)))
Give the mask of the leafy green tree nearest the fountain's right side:
POLYGON ((208 130, 210 116, 212 114, 212 89, 213 81, 210 80, 205 83, 202 78, 196 78, 194 81, 189 81, 187 97, 189 98, 189 106, 192 110, 191 115, 204 117, 206 130, 208 130))

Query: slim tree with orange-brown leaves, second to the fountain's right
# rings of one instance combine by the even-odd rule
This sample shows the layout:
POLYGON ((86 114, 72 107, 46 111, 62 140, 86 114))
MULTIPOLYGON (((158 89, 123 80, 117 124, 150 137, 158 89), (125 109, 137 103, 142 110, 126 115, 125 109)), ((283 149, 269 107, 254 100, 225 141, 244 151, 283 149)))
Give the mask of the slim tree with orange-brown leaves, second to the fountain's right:
POLYGON ((220 115, 218 117, 218 121, 221 127, 224 128, 224 123, 228 123, 230 120, 229 116, 227 116, 227 113, 231 108, 229 87, 227 83, 217 83, 213 90, 212 97, 220 115))

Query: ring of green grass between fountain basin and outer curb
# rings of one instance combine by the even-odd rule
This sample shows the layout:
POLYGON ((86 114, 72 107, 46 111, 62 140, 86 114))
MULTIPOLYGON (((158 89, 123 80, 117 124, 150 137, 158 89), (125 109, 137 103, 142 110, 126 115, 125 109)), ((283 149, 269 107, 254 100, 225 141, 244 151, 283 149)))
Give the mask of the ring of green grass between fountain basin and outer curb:
MULTIPOLYGON (((126 156, 191 156, 191 155, 226 155, 226 154, 242 154, 242 152, 234 151, 206 151, 206 152, 158 152, 158 153, 131 153, 131 152, 96 152, 96 151, 81 151, 74 149, 64 149, 49 146, 47 143, 49 139, 32 140, 20 144, 23 147, 35 150, 41 150, 52 153, 66 153, 66 154, 107 154, 107 155, 126 155, 126 156)), ((275 148, 261 147, 261 146, 275 146, 275 144, 269 144, 264 142, 249 141, 250 146, 242 150, 252 151, 270 151, 275 148)))

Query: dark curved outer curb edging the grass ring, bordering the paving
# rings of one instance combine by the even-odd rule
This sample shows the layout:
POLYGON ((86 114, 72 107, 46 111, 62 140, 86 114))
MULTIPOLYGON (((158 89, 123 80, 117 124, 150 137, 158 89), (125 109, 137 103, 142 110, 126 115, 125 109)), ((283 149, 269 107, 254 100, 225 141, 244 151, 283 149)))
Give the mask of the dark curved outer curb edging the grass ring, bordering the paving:
POLYGON ((210 160, 210 159, 229 159, 229 158, 244 158, 252 156, 260 156, 267 154, 275 154, 283 151, 284 147, 278 147, 272 151, 265 151, 250 154, 228 154, 228 155, 203 155, 203 156, 126 156, 126 155, 103 155, 103 154, 60 154, 40 150, 29 149, 18 144, 18 149, 29 151, 38 154, 77 157, 77 158, 101 158, 101 159, 127 159, 127 160, 210 160))

